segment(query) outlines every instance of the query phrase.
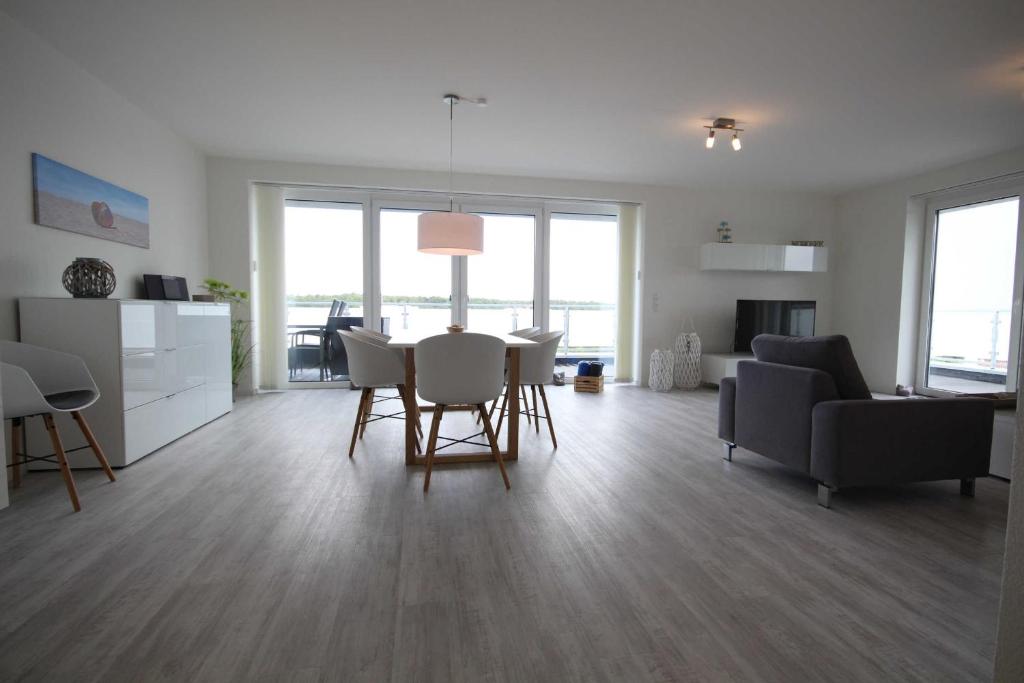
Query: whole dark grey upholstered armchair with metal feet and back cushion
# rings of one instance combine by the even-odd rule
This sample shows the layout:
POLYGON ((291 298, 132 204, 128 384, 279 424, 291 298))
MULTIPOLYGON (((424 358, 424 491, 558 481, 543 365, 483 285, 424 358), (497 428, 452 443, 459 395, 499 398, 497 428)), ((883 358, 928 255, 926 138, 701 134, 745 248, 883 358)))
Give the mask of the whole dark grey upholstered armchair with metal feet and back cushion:
POLYGON ((826 508, 848 486, 959 479, 973 496, 988 474, 990 401, 874 400, 842 335, 760 335, 752 347, 756 359, 721 384, 726 460, 738 445, 805 472, 826 508))

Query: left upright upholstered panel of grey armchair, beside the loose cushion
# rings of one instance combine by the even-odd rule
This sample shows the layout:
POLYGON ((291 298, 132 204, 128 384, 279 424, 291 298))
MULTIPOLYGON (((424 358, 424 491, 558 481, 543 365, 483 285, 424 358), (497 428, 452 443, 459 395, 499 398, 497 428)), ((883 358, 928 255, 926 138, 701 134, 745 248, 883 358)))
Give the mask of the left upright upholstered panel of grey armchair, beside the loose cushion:
POLYGON ((810 471, 811 411, 839 393, 828 373, 760 360, 736 370, 735 443, 810 471))

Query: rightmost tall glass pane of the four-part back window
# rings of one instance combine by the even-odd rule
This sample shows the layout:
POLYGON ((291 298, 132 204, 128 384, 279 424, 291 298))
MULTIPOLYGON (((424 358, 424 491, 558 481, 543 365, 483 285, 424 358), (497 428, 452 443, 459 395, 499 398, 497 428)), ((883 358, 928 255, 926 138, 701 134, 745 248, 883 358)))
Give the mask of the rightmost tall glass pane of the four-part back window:
POLYGON ((558 358, 599 359, 613 376, 618 298, 618 221, 600 214, 554 213, 550 221, 548 329, 564 332, 558 358))

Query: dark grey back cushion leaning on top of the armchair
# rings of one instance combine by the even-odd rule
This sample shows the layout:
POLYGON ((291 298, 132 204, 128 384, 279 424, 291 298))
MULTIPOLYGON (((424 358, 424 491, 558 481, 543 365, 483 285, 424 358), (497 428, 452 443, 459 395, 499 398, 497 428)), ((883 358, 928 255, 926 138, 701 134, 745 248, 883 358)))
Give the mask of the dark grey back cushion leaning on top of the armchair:
POLYGON ((828 373, 840 398, 870 398, 864 376, 853 356, 850 340, 844 335, 783 337, 758 335, 751 342, 754 356, 763 362, 812 368, 828 373))

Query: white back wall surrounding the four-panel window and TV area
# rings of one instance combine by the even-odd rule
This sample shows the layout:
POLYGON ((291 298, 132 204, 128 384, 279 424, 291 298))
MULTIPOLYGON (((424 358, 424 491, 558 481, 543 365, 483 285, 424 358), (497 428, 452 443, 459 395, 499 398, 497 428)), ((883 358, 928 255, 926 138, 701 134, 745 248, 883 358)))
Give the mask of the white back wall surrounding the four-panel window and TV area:
MULTIPOLYGON (((253 181, 443 191, 444 173, 210 158, 207 162, 210 269, 216 278, 252 289, 250 198, 253 181)), ((643 205, 643 311, 641 367, 655 347, 672 343, 693 316, 708 350, 727 350, 737 298, 818 301, 818 331, 831 330, 827 273, 723 273, 698 270, 698 247, 715 240, 728 220, 736 242, 795 239, 829 243, 835 199, 806 193, 740 188, 685 189, 651 185, 460 175, 465 193, 636 202, 643 205), (658 301, 655 306, 655 297, 658 301)))

